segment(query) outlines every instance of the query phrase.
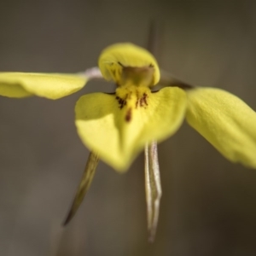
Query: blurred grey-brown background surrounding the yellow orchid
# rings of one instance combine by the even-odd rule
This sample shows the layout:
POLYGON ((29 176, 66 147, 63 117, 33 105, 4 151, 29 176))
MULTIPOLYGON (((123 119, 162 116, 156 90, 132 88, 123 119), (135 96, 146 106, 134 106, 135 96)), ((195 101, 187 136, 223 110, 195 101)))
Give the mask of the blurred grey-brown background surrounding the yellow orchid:
MULTIPOLYGON (((117 42, 146 47, 160 24, 160 64, 256 109, 254 1, 3 1, 0 71, 76 73, 117 42)), ((233 165, 189 125, 159 146, 163 197, 148 243, 143 154, 124 175, 104 163, 73 221, 61 223, 88 150, 73 123, 79 96, 0 97, 0 255, 256 254, 256 172, 233 165)), ((255 153, 256 157, 256 153, 255 153)))

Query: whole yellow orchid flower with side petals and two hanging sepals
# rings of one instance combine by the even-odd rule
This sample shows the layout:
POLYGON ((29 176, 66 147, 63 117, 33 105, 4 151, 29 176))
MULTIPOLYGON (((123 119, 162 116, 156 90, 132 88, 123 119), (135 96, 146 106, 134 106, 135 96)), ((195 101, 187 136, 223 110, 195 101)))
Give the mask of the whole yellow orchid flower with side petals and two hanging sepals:
POLYGON ((192 88, 175 79, 154 90, 161 83, 157 61, 134 44, 104 49, 99 68, 101 73, 90 69, 73 75, 0 73, 0 95, 9 97, 57 99, 99 77, 117 86, 112 94, 84 95, 76 104, 75 124, 91 153, 66 224, 89 189, 99 159, 125 172, 145 148, 148 230, 153 240, 161 196, 156 143, 171 137, 183 119, 228 160, 256 168, 256 113, 238 97, 214 88, 192 88))

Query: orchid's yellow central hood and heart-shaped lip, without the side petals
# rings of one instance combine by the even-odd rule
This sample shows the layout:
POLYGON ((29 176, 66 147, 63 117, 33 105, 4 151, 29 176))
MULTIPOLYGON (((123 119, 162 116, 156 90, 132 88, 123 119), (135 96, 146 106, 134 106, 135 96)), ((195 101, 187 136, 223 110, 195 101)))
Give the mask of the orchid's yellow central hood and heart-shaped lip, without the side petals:
POLYGON ((146 143, 170 137, 187 108, 184 90, 157 92, 160 70, 153 55, 133 44, 114 44, 99 58, 102 76, 117 84, 114 94, 82 96, 76 104, 79 136, 90 150, 124 172, 146 143))

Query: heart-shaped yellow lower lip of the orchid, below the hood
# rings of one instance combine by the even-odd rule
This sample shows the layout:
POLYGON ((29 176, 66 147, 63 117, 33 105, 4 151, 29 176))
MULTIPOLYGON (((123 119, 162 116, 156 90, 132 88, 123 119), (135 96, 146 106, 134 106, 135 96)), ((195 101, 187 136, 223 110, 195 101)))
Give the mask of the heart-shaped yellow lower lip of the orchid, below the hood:
POLYGON ((146 143, 160 142, 177 131, 187 99, 183 90, 173 87, 149 90, 144 103, 120 106, 116 95, 82 96, 75 108, 79 137, 114 169, 125 171, 146 143))

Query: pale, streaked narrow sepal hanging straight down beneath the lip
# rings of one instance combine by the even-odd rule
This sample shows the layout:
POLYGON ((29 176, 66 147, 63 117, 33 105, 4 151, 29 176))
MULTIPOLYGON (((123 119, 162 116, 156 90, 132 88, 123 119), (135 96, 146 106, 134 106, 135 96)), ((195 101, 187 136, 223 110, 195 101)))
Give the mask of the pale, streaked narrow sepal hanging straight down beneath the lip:
POLYGON ((158 224, 162 195, 157 143, 145 146, 145 189, 148 214, 148 241, 153 242, 158 224))

